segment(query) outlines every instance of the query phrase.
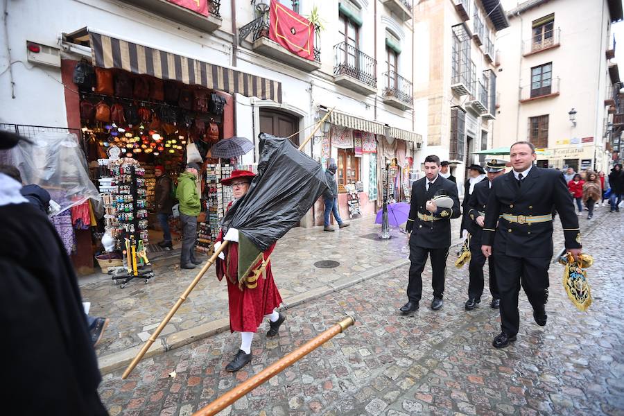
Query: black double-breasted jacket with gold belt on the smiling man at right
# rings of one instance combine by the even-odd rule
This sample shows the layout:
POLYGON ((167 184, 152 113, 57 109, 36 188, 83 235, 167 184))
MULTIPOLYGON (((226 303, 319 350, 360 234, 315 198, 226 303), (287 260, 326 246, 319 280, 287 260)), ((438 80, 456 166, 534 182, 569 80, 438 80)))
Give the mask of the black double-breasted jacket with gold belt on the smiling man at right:
POLYGON ((510 222, 499 216, 550 215, 553 212, 553 205, 561 218, 566 248, 580 248, 578 216, 574 211, 572 196, 563 173, 536 166, 532 166, 521 186, 513 171, 497 177, 492 182, 481 242, 484 245, 492 245, 496 233, 493 252, 513 257, 552 257, 553 221, 522 224, 510 222))

